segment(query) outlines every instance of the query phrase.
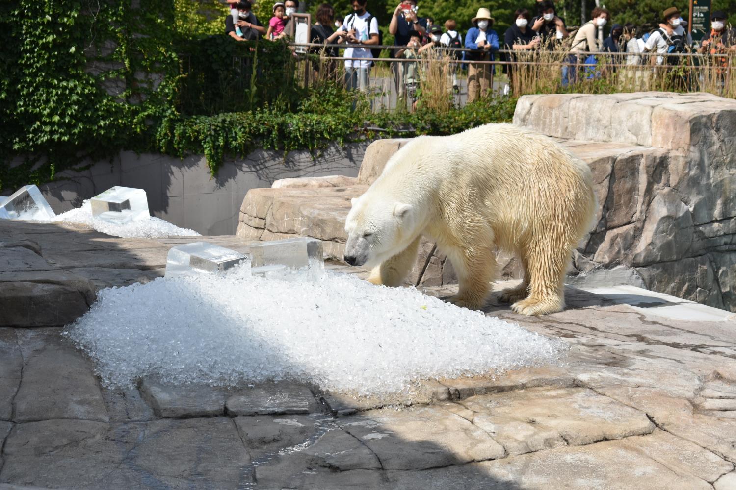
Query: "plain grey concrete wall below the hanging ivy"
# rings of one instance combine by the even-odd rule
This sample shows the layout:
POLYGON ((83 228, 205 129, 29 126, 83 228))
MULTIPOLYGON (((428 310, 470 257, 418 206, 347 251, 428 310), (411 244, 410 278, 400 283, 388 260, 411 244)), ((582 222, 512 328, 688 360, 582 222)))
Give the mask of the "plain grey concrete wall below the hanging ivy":
POLYGON ((245 159, 225 162, 214 178, 204 156, 182 160, 121 151, 111 160, 91 162, 80 173, 61 172, 63 180, 40 189, 58 214, 114 185, 138 187, 146 190, 154 216, 205 235, 235 234, 249 189, 290 177, 357 176, 368 144, 330 145, 314 157, 308 151, 291 151, 284 158, 283 151, 257 150, 245 159))

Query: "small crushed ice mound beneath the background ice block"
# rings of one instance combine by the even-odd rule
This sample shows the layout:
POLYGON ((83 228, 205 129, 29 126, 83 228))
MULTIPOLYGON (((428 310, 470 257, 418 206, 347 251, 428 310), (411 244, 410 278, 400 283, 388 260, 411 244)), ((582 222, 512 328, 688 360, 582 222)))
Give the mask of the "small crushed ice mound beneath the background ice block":
POLYGON ((161 237, 193 237, 199 233, 189 228, 178 226, 155 216, 143 216, 127 223, 113 223, 92 217, 92 207, 89 200, 82 203, 82 207, 71 209, 56 215, 50 221, 75 223, 94 228, 96 231, 121 238, 161 238, 161 237))

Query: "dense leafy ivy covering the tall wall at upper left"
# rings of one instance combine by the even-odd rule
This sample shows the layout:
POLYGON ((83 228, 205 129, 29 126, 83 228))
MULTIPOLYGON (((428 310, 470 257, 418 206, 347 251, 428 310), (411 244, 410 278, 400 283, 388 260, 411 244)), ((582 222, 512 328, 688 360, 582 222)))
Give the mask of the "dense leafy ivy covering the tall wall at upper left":
POLYGON ((52 180, 56 170, 121 148, 151 118, 171 114, 179 75, 171 1, 143 3, 1 7, 0 189, 52 180))

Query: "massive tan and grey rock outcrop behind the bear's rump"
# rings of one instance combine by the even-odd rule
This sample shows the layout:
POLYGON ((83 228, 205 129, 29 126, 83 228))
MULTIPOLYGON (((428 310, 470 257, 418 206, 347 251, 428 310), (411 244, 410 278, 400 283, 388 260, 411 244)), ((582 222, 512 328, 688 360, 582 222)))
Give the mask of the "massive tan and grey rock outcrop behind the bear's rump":
POLYGON ((592 167, 598 224, 578 272, 623 264, 649 289, 736 311, 736 101, 526 96, 514 123, 566 138, 592 167))

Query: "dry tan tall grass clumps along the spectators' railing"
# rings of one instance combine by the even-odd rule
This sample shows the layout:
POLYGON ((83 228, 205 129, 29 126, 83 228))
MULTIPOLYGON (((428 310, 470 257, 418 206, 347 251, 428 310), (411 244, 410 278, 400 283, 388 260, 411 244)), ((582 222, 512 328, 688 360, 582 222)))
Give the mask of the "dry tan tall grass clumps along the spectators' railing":
MULTIPOLYGON (((305 85, 319 86, 324 82, 344 79, 342 60, 328 60, 322 54, 314 60, 301 60, 297 68, 299 79, 305 85)), ((567 65, 567 51, 514 51, 506 67, 513 97, 543 93, 630 93, 643 91, 707 92, 727 98, 736 98, 736 54, 704 54, 680 57, 676 65, 654 66, 656 54, 598 54, 592 65, 576 66, 576 79, 562 86, 562 68, 567 65)), ((423 51, 412 62, 417 67, 418 89, 416 98, 406 101, 397 96, 406 95, 405 87, 396 93, 389 62, 378 61, 371 70, 371 87, 367 93, 353 93, 369 111, 386 109, 414 110, 426 107, 445 113, 459 104, 453 96, 453 64, 445 51, 423 51), (398 100, 397 100, 398 99, 398 100), (415 104, 411 104, 414 101, 415 104)), ((672 61, 672 60, 670 60, 672 61)), ((500 75, 500 65, 496 67, 500 75)), ((459 73, 459 79, 463 79, 459 73)), ((492 93, 499 97, 499 93, 492 93)))

